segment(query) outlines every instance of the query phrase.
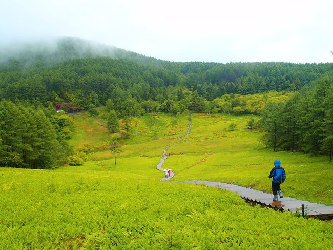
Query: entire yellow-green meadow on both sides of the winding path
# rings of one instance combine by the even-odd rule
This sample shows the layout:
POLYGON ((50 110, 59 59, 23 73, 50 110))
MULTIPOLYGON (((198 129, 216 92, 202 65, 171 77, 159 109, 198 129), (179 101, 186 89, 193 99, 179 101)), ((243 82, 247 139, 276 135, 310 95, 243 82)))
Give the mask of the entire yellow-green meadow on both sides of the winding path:
POLYGON ((214 180, 270 192, 275 159, 287 173, 285 196, 333 204, 327 157, 273 152, 246 130, 249 116, 160 114, 134 118, 135 136, 121 141, 117 165, 105 146, 106 128, 87 114, 75 116, 70 145, 90 149, 82 166, 53 170, 0 168, 0 249, 331 249, 330 222, 249 206, 228 191, 160 182, 214 180), (176 119, 176 121, 175 121, 176 119), (230 123, 235 131, 228 131, 230 123))

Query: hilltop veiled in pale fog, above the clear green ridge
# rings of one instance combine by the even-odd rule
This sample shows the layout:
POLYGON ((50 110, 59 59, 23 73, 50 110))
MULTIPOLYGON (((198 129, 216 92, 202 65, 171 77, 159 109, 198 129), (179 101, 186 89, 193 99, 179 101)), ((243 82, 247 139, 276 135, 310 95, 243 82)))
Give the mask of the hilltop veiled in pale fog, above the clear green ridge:
POLYGON ((76 37, 58 37, 0 45, 0 66, 13 60, 24 63, 25 66, 30 66, 36 62, 48 66, 69 59, 94 57, 110 57, 139 63, 161 61, 114 46, 76 37))

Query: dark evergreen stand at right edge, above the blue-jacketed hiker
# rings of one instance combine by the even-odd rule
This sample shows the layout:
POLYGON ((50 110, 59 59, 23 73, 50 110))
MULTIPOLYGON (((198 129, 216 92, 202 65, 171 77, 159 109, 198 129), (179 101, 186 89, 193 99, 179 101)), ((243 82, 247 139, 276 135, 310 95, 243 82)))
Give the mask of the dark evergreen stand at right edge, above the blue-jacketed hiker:
POLYGON ((261 113, 265 141, 276 151, 304 151, 332 156, 333 78, 324 76, 314 88, 296 92, 284 103, 268 103, 261 113))

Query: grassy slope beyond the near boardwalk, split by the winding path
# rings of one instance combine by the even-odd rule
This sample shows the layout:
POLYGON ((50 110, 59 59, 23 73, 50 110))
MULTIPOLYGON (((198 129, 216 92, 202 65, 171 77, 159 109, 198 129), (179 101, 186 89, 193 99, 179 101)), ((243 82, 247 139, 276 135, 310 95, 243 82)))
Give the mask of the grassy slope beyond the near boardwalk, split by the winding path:
MULTIPOLYGON (((162 173, 155 170, 164 148, 169 158, 165 168, 175 172, 174 180, 211 180, 253 187, 270 193, 270 169, 280 159, 287 173, 282 185, 286 196, 333 205, 333 172, 327 156, 313 157, 304 153, 265 148, 261 132, 247 130, 250 116, 203 115, 192 116, 189 136, 180 140, 188 128, 188 118, 160 114, 151 125, 151 116, 134 118, 131 130, 136 136, 122 141, 117 154, 117 169, 149 172, 156 180, 162 173), (175 120, 172 122, 172 120, 175 120), (235 131, 228 126, 236 123, 235 131), (172 125, 173 124, 173 125, 172 125), (144 165, 142 168, 141 165, 144 165), (137 169, 140 166, 140 169, 137 169), (316 183, 316 188, 310 188, 316 183)), ((75 117, 76 132, 70 143, 98 150, 89 156, 90 164, 114 165, 113 155, 105 144, 109 140, 106 128, 86 114, 75 117)))

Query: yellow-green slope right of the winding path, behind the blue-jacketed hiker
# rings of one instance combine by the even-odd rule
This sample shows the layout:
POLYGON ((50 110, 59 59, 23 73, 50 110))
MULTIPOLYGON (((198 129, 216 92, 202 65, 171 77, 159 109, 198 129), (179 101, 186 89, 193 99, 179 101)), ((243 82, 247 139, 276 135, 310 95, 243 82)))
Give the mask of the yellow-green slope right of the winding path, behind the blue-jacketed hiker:
POLYGON ((261 132, 246 129, 249 118, 194 114, 187 141, 168 151, 167 164, 177 174, 174 179, 227 182, 270 193, 268 175, 274 160, 280 159, 287 173, 282 184, 286 196, 332 205, 333 171, 327 156, 273 152, 260 141, 261 132), (237 124, 235 131, 228 131, 230 123, 237 124))

